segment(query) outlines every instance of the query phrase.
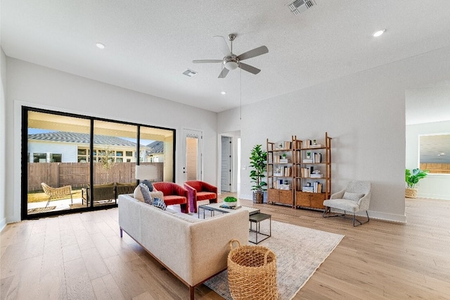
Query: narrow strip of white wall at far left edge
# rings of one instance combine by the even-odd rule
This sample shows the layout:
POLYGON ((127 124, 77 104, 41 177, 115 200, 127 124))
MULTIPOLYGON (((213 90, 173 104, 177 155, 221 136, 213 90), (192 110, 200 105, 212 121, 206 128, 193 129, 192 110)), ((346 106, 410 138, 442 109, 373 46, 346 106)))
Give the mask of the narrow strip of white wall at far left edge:
MULTIPOLYGON (((6 56, 0 48, 0 153, 6 154, 6 56)), ((6 158, 6 156, 4 156, 6 158)), ((6 225, 6 161, 0 160, 0 231, 6 225)))

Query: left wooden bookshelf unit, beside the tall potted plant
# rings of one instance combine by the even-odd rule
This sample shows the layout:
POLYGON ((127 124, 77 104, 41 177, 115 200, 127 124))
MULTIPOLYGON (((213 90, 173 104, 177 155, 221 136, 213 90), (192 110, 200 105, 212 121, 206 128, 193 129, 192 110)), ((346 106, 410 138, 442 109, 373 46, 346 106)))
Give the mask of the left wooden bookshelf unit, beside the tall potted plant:
POLYGON ((267 202, 294 207, 293 139, 269 142, 267 139, 267 202))

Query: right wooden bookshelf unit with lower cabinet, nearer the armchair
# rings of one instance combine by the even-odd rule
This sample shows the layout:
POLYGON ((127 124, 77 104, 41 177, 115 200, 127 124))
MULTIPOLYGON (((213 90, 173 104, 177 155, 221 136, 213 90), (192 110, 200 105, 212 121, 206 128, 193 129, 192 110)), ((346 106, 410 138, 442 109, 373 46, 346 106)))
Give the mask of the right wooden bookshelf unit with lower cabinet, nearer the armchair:
POLYGON ((293 138, 295 208, 324 209, 331 192, 331 137, 293 138))

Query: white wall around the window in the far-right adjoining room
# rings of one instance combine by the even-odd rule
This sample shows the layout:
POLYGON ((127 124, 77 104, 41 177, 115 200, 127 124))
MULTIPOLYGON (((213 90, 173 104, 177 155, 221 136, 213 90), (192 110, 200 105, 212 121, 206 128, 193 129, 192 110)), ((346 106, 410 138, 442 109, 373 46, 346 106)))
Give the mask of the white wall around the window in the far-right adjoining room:
MULTIPOLYGON (((406 168, 419 167, 420 135, 450 133, 450 121, 406 125, 406 168)), ((418 197, 450 200, 450 175, 429 174, 417 185, 418 197)))

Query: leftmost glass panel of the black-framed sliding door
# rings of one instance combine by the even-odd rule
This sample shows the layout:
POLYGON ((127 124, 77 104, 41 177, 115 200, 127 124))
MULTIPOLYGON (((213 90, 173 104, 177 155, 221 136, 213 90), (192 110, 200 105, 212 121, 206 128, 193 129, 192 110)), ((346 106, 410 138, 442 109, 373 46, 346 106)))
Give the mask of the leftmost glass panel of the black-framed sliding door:
POLYGON ((86 206, 90 120, 27 111, 27 124, 26 214, 86 206))

